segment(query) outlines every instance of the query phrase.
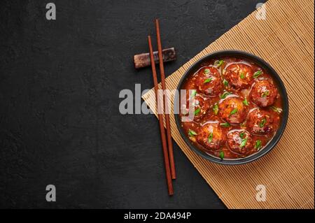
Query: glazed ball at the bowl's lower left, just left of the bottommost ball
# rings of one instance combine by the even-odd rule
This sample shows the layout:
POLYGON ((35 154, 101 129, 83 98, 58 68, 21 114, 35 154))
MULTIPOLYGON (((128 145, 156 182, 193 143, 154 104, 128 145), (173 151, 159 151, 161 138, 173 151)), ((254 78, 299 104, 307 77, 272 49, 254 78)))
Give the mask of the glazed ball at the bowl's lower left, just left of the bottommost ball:
POLYGON ((225 142, 225 134, 219 122, 206 122, 198 130, 196 140, 205 150, 214 152, 220 150, 225 142))

